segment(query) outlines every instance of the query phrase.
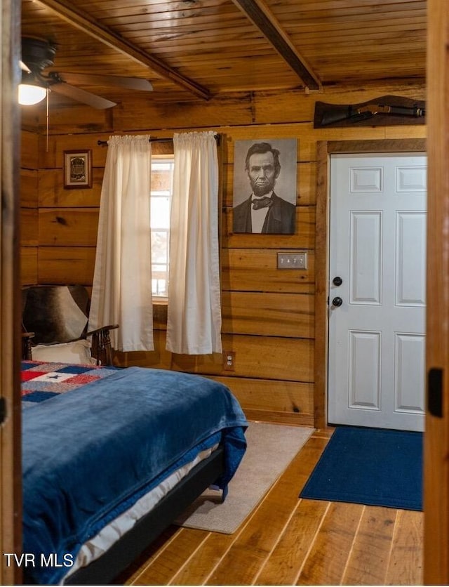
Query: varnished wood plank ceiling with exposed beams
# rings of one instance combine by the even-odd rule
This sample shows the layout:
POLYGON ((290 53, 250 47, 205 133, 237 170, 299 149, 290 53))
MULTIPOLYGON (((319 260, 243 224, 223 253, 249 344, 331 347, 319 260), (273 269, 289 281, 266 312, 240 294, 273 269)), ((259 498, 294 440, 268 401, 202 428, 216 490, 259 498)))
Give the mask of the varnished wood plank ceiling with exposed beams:
MULTIPOLYGON (((45 74, 142 77, 154 91, 139 94, 160 101, 424 83, 426 1, 22 0, 23 36, 55 44, 45 74)), ((136 97, 76 85, 117 103, 136 97)))

